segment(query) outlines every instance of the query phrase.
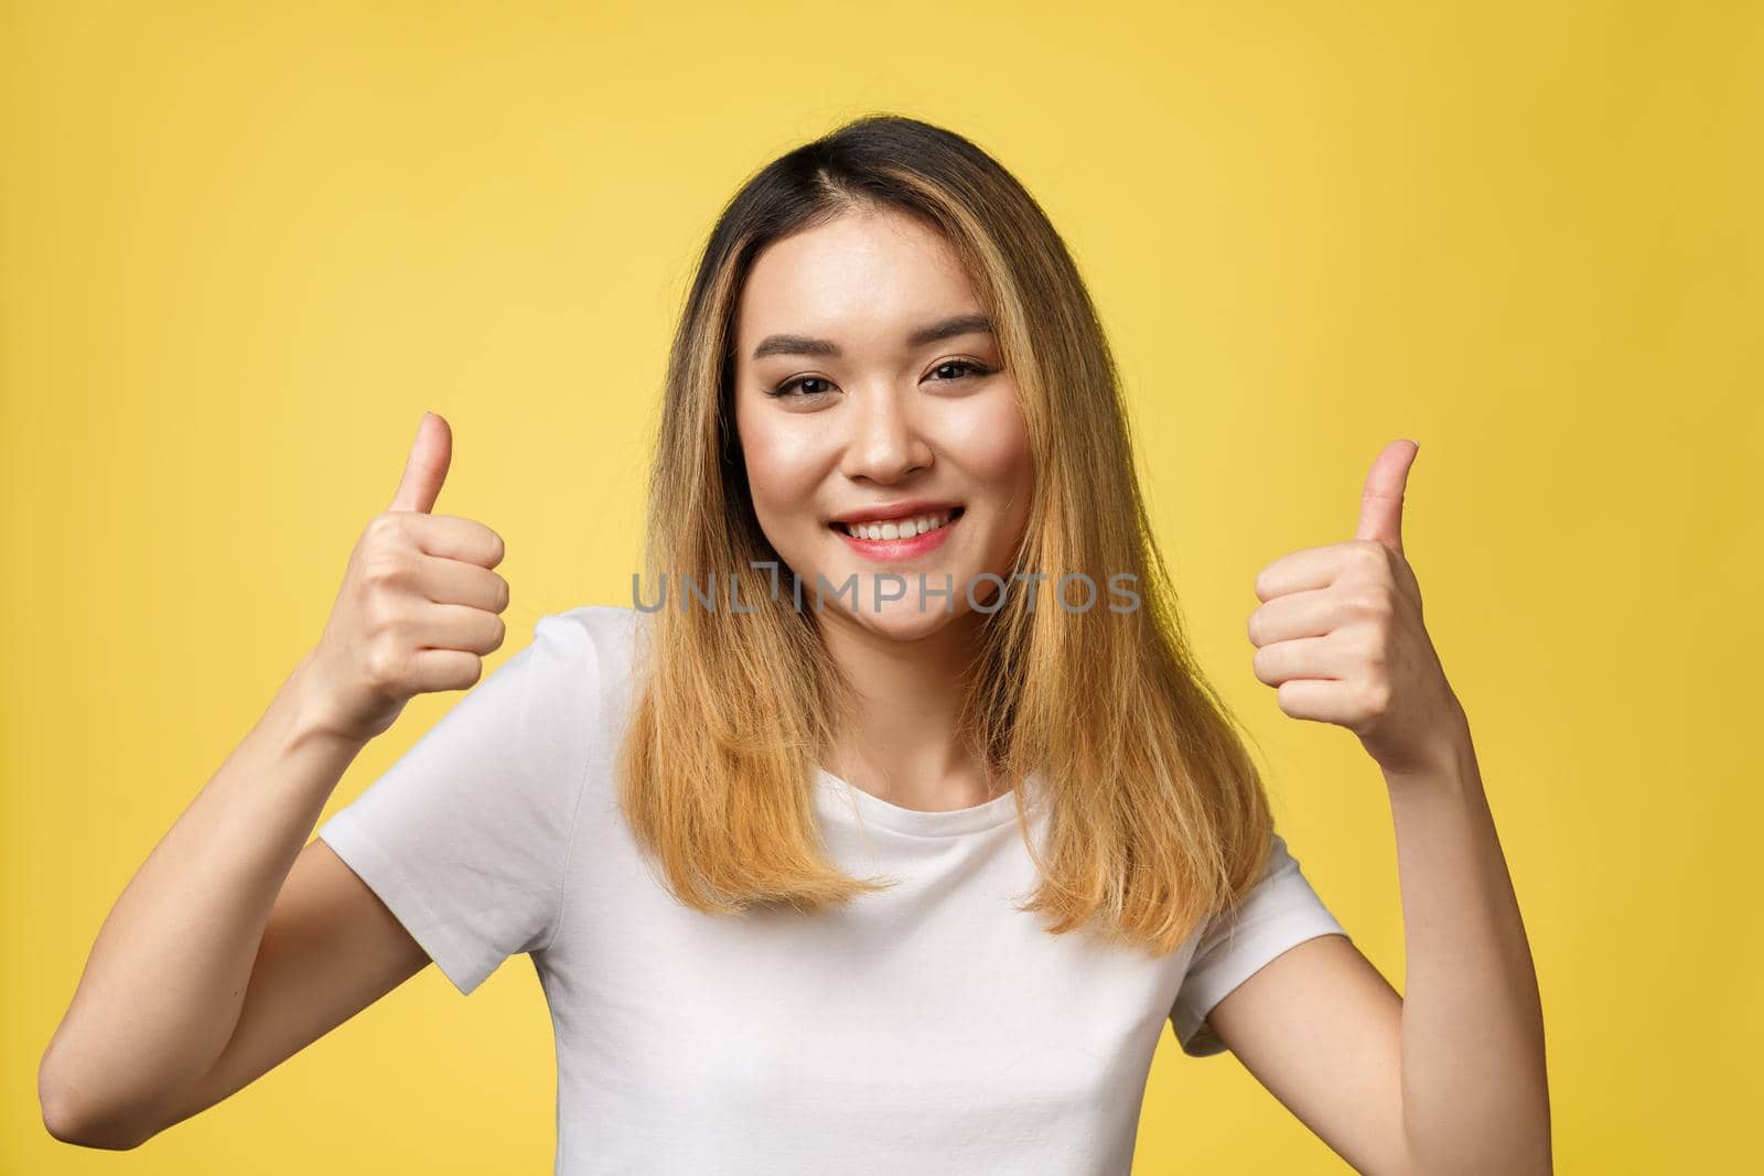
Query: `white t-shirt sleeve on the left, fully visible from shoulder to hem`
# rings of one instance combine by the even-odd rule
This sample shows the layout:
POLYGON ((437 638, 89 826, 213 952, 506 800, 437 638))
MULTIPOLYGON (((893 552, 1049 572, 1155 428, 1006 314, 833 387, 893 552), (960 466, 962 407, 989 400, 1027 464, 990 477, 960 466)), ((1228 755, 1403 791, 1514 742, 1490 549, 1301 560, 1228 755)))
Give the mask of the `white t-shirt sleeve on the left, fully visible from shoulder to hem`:
POLYGON ((540 617, 318 830, 462 994, 557 926, 596 679, 582 624, 540 617))

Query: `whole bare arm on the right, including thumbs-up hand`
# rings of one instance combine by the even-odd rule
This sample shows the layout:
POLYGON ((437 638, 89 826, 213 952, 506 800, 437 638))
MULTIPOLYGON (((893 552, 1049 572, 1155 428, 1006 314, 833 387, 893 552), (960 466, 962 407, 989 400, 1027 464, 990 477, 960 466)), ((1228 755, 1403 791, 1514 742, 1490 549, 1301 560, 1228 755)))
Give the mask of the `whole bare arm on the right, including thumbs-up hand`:
POLYGON ((1402 552, 1418 446, 1387 444, 1348 543, 1256 577, 1256 677, 1281 709, 1346 726, 1385 774, 1406 998, 1342 936, 1300 943, 1212 1014, 1288 1107, 1364 1171, 1547 1174, 1544 1009, 1469 719, 1402 552))

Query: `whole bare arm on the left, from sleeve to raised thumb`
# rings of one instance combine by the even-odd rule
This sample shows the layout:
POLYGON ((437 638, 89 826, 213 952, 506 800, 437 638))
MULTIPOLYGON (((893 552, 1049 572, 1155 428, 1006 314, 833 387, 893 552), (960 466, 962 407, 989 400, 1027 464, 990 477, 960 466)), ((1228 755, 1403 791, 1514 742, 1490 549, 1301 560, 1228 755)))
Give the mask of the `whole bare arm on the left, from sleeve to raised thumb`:
POLYGON ((503 540, 430 515, 452 434, 423 416, 392 510, 356 543, 318 647, 136 871, 44 1049, 56 1139, 132 1148, 325 1035, 427 961, 323 843, 344 769, 418 693, 503 644, 503 540))

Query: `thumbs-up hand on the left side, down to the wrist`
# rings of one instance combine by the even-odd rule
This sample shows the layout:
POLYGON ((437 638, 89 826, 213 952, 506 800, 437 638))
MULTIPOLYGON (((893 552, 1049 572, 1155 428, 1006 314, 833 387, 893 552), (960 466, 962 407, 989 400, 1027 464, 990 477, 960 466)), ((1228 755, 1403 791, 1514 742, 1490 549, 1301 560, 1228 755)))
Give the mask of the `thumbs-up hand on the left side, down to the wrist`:
POLYGON ((466 689, 503 644, 503 538, 430 515, 453 451, 446 420, 423 413, 392 508, 369 520, 307 674, 316 723, 348 739, 385 732, 415 695, 466 689))

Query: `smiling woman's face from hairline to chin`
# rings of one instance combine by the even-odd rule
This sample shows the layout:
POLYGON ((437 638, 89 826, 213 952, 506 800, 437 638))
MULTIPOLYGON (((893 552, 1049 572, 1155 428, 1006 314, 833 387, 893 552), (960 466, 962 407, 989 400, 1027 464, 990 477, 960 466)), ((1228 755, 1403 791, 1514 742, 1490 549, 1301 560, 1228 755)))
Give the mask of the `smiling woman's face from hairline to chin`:
POLYGON ((803 578, 804 612, 817 575, 827 615, 900 640, 972 614, 970 584, 991 607, 998 584, 977 577, 1011 573, 1028 430, 940 233, 863 210, 767 247, 737 309, 736 428, 760 527, 803 578), (866 518, 857 534, 845 525, 866 518), (856 601, 834 596, 854 577, 856 601))

